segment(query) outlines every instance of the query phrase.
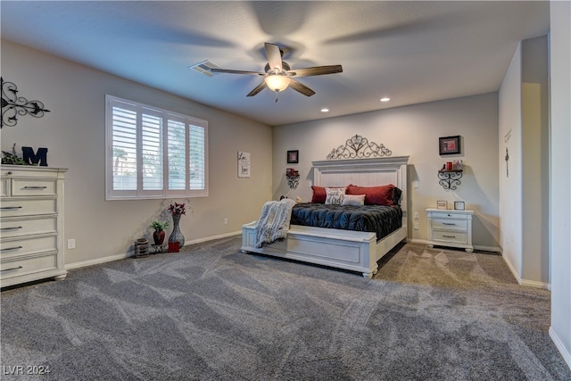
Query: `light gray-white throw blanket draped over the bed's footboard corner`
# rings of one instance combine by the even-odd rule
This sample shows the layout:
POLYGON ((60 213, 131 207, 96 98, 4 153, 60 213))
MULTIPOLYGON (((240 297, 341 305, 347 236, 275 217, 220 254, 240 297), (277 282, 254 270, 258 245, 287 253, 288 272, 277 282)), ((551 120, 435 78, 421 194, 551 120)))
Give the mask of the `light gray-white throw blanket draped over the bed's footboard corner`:
POLYGON ((294 205, 294 200, 289 198, 264 203, 255 229, 256 247, 261 247, 262 244, 271 244, 287 236, 294 205))

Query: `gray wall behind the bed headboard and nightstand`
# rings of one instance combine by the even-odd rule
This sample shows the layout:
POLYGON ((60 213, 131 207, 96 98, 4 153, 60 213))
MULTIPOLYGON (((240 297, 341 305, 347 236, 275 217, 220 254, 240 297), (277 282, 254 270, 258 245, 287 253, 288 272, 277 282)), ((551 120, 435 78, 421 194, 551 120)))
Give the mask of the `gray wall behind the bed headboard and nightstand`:
POLYGON ((285 169, 293 167, 300 171, 301 181, 290 198, 299 195, 302 201, 310 201, 311 162, 326 160, 333 148, 358 134, 384 144, 393 156, 410 155, 410 239, 426 240, 425 210, 435 208, 437 200, 448 201, 449 207, 454 201, 464 201, 467 209, 475 211, 474 244, 499 250, 497 93, 295 123, 273 130, 275 199, 288 192, 285 169), (438 137, 456 135, 461 136, 461 154, 441 157, 438 137), (299 164, 286 163, 288 150, 299 150, 299 164), (437 170, 451 159, 464 163, 464 177, 456 191, 444 190, 437 178, 437 170), (418 181, 418 189, 412 188, 414 181, 418 181), (414 211, 419 215, 418 230, 413 229, 414 211))

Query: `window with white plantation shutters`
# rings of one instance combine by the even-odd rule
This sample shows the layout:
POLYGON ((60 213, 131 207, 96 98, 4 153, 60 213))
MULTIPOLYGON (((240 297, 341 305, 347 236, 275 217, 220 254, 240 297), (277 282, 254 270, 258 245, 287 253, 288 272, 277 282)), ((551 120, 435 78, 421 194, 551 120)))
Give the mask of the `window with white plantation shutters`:
POLYGON ((208 122, 105 96, 106 200, 208 195, 208 122))

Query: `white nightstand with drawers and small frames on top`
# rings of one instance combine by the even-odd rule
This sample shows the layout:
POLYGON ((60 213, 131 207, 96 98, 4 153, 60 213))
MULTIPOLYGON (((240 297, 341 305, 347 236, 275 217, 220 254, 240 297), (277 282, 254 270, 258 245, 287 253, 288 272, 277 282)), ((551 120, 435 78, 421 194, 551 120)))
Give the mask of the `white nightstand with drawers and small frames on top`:
POLYGON ((426 209, 428 216, 428 241, 426 245, 460 247, 468 253, 472 245, 472 214, 474 211, 445 211, 426 209))

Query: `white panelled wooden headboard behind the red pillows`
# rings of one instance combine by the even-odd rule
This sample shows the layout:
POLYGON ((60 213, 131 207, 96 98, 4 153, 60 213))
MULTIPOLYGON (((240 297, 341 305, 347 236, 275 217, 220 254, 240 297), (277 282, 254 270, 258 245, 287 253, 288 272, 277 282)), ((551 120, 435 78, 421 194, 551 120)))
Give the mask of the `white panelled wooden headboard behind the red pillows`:
POLYGON ((373 159, 326 160, 312 162, 313 184, 316 186, 384 186, 393 184, 401 189, 401 208, 406 216, 407 164, 409 156, 373 159))

